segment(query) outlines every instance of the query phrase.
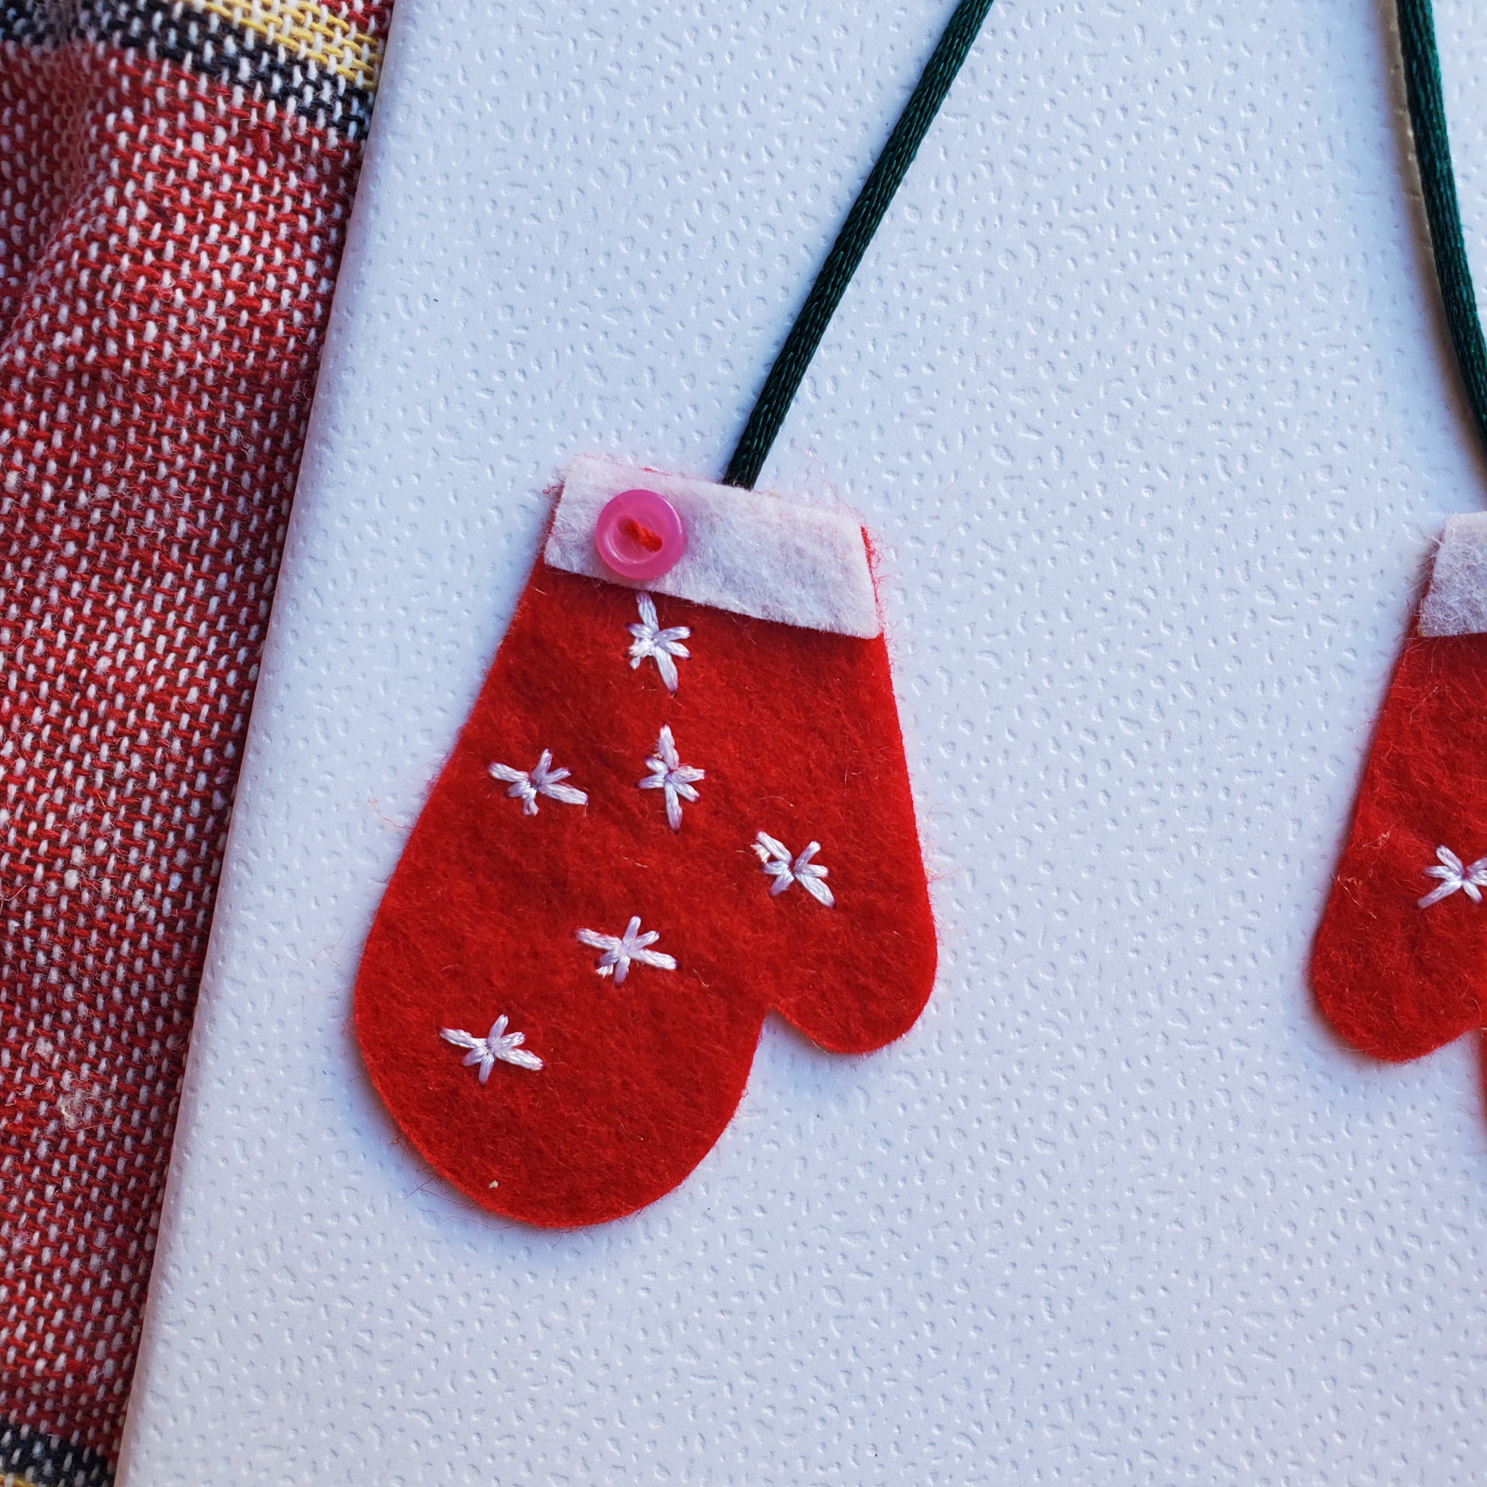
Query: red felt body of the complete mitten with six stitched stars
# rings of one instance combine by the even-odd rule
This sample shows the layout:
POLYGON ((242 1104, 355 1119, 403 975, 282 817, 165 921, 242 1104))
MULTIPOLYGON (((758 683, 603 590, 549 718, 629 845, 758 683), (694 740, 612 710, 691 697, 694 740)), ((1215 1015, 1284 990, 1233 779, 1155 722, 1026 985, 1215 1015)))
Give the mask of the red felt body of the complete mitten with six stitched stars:
POLYGON ((909 1029, 934 923, 883 641, 659 598, 690 626, 675 696, 632 669, 630 589, 538 565, 387 889, 355 990, 372 1080, 413 1145, 482 1206, 531 1224, 617 1218, 675 1187, 718 1139, 775 1008, 825 1048, 909 1029), (669 724, 706 770, 683 825, 638 790, 669 724), (586 806, 538 813, 488 773, 543 749, 586 806), (751 851, 819 840, 836 907, 778 897, 751 851), (665 971, 595 972, 580 928, 656 929, 665 971), (477 1083, 440 1028, 498 1014, 546 1060, 477 1083))

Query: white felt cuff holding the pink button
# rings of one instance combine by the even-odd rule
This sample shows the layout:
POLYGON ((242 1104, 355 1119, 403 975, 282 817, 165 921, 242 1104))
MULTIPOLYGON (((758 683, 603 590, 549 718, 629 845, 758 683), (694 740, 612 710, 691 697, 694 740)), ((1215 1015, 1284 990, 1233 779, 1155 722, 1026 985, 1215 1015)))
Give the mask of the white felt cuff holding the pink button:
POLYGON ((857 519, 732 485, 657 474, 580 457, 568 467, 543 555, 549 567, 711 604, 757 620, 871 636, 882 630, 867 543, 857 519), (650 583, 622 578, 593 544, 599 512, 632 489, 663 495, 687 528, 687 550, 650 583))

